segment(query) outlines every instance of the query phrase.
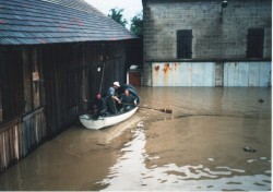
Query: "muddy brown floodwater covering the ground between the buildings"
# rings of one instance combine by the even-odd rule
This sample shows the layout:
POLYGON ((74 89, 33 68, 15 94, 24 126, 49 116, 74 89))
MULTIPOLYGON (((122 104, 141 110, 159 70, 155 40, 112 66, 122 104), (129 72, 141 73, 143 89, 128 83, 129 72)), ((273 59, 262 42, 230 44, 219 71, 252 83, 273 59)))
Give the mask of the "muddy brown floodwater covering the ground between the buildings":
POLYGON ((76 123, 4 171, 0 190, 271 190, 271 88, 138 91, 143 107, 174 113, 140 108, 99 131, 76 123))

